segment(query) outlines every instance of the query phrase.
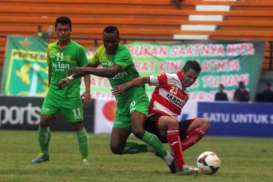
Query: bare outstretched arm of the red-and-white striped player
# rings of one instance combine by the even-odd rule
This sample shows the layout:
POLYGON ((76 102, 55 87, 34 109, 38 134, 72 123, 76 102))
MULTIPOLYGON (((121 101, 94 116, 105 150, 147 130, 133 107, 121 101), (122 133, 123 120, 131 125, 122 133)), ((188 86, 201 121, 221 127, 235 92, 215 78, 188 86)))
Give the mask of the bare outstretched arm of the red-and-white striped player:
POLYGON ((127 90, 131 87, 141 86, 145 83, 149 83, 149 77, 137 77, 131 81, 125 82, 123 84, 120 84, 119 86, 112 89, 112 94, 117 95, 122 93, 123 91, 127 90))

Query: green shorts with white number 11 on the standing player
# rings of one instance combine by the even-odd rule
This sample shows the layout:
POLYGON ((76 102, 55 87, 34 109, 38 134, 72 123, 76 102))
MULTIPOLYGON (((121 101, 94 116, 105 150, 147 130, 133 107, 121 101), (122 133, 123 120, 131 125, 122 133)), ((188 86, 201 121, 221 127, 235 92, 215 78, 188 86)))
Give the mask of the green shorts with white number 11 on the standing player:
POLYGON ((61 112, 66 121, 75 123, 83 120, 83 104, 78 97, 64 97, 61 92, 49 89, 44 99, 41 115, 53 116, 61 112))

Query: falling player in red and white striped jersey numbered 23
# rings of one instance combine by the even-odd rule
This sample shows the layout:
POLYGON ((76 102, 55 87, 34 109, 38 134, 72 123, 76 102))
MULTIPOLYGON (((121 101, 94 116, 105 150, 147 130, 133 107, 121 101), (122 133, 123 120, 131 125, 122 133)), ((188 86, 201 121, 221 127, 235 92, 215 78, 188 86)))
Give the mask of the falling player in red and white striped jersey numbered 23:
POLYGON ((162 142, 169 143, 177 170, 184 174, 196 172, 197 169, 185 164, 183 151, 199 141, 208 130, 206 118, 177 121, 177 116, 188 100, 186 88, 195 82, 200 71, 197 61, 187 61, 182 70, 176 73, 138 77, 113 89, 113 94, 118 94, 146 83, 156 86, 150 100, 150 117, 145 128, 156 134, 162 142))

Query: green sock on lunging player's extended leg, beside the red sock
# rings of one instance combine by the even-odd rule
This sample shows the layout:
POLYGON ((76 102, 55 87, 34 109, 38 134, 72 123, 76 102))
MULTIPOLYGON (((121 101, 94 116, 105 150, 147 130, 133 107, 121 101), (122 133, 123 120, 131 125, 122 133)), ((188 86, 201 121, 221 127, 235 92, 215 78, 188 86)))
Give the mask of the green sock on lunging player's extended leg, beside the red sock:
POLYGON ((142 140, 150 145, 159 157, 163 158, 167 154, 166 149, 156 135, 145 131, 142 140))

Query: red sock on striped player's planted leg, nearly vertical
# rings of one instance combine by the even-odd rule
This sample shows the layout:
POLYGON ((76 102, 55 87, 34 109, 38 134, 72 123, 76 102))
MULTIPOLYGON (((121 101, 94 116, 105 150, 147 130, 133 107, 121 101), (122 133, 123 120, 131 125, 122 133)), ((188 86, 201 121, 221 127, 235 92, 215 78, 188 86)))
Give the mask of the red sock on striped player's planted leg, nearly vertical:
POLYGON ((176 166, 182 170, 184 165, 183 148, 179 136, 179 130, 168 130, 167 139, 174 154, 176 166))

